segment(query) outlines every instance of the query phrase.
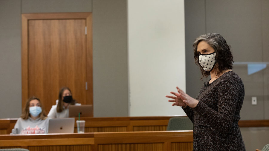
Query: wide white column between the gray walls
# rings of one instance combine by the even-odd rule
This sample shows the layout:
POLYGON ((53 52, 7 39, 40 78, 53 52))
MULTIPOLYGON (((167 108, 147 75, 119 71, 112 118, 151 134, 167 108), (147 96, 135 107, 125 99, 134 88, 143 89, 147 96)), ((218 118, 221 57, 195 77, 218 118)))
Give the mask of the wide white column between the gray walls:
POLYGON ((185 114, 165 95, 186 90, 184 0, 128 0, 129 115, 185 114))

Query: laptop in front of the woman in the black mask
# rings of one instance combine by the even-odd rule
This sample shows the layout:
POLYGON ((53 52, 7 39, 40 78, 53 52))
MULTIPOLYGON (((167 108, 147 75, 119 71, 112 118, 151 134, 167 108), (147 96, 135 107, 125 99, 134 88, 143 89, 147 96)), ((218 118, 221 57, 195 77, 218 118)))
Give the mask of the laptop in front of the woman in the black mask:
POLYGON ((69 105, 69 117, 93 117, 92 105, 69 105))

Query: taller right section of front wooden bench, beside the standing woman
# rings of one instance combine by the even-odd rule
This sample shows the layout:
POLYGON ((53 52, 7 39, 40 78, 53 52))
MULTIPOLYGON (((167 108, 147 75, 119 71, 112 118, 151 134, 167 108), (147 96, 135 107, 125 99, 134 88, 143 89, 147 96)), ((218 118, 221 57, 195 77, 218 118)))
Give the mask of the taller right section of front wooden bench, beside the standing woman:
POLYGON ((95 143, 98 151, 114 150, 164 150, 169 151, 171 142, 183 142, 183 145, 173 146, 183 150, 192 150, 185 142, 193 142, 192 131, 164 131, 164 132, 114 132, 95 133, 95 143), (180 135, 179 135, 180 134, 180 135), (154 136, 153 136, 154 135, 154 136), (184 147, 184 148, 183 148, 184 147), (188 147, 188 148, 187 148, 188 147))

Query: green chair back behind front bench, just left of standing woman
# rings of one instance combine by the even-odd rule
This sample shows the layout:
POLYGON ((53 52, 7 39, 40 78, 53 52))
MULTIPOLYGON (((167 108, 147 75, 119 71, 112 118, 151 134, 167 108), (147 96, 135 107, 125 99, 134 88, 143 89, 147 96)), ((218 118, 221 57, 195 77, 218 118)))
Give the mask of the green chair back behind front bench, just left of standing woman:
POLYGON ((188 117, 172 117, 166 130, 193 130, 193 124, 188 117))

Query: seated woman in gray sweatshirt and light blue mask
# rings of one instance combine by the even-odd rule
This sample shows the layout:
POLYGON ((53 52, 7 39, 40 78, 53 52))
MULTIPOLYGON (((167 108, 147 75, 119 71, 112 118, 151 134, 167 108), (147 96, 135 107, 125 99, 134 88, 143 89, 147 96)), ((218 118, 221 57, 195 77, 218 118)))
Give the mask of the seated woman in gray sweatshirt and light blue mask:
POLYGON ((21 117, 17 120, 10 134, 48 133, 49 118, 39 98, 30 97, 25 104, 21 117))

